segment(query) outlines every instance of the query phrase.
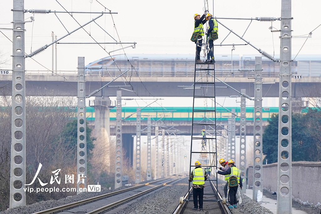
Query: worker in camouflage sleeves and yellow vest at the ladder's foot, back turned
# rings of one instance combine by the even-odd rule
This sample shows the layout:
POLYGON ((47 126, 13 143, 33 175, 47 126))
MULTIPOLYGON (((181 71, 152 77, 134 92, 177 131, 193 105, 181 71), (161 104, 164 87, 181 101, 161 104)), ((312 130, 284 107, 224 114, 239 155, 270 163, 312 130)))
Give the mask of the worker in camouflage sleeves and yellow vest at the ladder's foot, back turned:
POLYGON ((194 202, 194 208, 192 210, 197 210, 198 204, 199 209, 203 209, 203 196, 204 196, 204 187, 205 187, 205 181, 207 180, 207 173, 205 169, 202 168, 201 163, 199 161, 195 162, 195 169, 191 172, 191 175, 189 175, 188 181, 193 181, 193 202, 194 202), (197 204, 197 198, 198 198, 198 204, 197 204))

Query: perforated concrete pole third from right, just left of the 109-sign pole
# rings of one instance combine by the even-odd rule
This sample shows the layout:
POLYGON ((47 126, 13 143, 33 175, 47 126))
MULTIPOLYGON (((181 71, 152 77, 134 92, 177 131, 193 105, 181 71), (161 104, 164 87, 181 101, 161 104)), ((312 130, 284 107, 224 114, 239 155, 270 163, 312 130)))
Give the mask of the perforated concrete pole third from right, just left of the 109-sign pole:
MULTIPOLYGON (((246 93, 245 89, 241 89, 241 93, 246 93)), ((240 118, 240 160, 239 169, 241 170, 242 182, 246 184, 246 98, 241 97, 241 118, 240 118)), ((241 193, 246 193, 246 185, 244 185, 241 193)))

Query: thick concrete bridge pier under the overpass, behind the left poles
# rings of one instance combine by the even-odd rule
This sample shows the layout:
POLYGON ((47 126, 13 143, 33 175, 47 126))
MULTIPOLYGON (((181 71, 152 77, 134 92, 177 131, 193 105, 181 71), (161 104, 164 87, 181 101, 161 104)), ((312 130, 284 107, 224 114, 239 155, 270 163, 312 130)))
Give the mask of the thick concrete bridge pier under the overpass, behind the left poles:
MULTIPOLYGON (((95 151, 100 154, 102 162, 104 163, 108 172, 110 172, 110 120, 109 113, 111 107, 111 100, 109 97, 96 97, 94 100, 95 108, 95 128, 94 136, 97 138, 95 141, 95 151), (101 154, 101 151, 103 154, 101 154)), ((94 151, 94 155, 95 155, 94 151)))

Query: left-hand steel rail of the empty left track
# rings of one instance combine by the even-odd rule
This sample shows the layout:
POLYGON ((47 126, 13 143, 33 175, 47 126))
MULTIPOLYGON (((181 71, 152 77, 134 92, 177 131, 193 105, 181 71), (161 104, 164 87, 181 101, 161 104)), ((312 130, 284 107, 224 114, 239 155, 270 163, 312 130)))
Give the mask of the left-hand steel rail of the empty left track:
POLYGON ((118 190, 118 191, 115 191, 115 192, 112 192, 112 193, 106 193, 106 194, 99 195, 99 196, 96 196, 96 197, 93 197, 93 198, 84 199, 82 201, 76 201, 76 202, 73 202, 73 203, 70 203, 70 204, 65 204, 65 205, 62 205, 62 206, 59 206, 59 207, 54 207, 54 208, 51 208, 51 209, 48 209, 48 210, 43 210, 43 211, 35 212, 35 213, 32 213, 32 214, 50 214, 50 213, 57 212, 57 211, 60 211, 60 210, 65 210, 65 209, 68 209, 68 208, 71 208, 71 207, 79 206, 79 205, 87 203, 87 202, 99 200, 99 199, 106 198, 106 197, 109 197, 109 196, 113 196, 113 195, 116 195, 116 194, 119 194, 119 193, 124 193, 124 192, 130 191, 130 190, 133 190, 133 189, 137 189, 137 188, 140 188, 140 187, 143 187, 143 186, 148 186, 150 184, 153 184, 153 183, 156 183, 156 182, 160 182, 160 181, 163 181, 163 180, 166 180, 166 179, 169 179, 169 178, 173 178, 173 177, 176 177, 176 176, 162 178, 162 179, 159 179, 159 180, 156 180, 156 181, 148 182, 146 184, 140 184, 140 185, 129 187, 129 188, 126 188, 126 189, 123 189, 123 190, 118 190))

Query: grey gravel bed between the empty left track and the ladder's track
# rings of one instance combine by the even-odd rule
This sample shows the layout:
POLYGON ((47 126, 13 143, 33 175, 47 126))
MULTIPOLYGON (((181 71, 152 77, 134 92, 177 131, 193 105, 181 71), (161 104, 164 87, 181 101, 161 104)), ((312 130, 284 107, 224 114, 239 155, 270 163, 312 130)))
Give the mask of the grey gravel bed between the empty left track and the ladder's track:
POLYGON ((126 207, 124 210, 118 211, 116 214, 172 213, 179 204, 179 197, 184 196, 187 190, 187 178, 183 178, 177 183, 165 186, 165 189, 142 196, 137 202, 126 207))

